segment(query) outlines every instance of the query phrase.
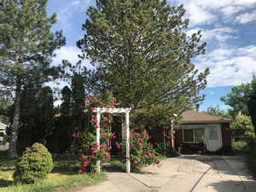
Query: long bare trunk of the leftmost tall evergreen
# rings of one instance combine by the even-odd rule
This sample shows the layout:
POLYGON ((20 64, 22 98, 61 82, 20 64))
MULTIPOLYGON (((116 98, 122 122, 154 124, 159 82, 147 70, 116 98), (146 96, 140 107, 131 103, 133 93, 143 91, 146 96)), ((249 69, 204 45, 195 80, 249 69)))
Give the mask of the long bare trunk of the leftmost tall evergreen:
POLYGON ((21 94, 21 78, 18 77, 16 81, 16 90, 15 90, 15 111, 13 124, 11 128, 11 137, 9 142, 9 157, 17 157, 17 141, 18 141, 18 130, 20 125, 20 94, 21 94))

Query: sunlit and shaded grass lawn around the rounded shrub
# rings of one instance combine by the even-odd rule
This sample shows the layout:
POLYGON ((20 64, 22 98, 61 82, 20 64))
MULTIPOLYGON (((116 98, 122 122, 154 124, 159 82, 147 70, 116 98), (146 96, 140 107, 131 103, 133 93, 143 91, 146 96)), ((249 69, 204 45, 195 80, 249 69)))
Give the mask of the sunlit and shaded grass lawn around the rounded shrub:
POLYGON ((55 168, 43 181, 35 184, 13 183, 15 161, 8 160, 6 152, 0 152, 0 191, 2 192, 69 192, 107 179, 104 172, 77 174, 78 161, 70 155, 53 155, 55 168))

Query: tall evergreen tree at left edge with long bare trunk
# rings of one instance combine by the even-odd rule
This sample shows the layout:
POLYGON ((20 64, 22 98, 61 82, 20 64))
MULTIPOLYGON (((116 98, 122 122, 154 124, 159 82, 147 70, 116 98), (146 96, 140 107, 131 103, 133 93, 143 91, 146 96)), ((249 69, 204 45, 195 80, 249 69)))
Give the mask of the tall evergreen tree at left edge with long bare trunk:
POLYGON ((65 44, 61 32, 51 32, 56 15, 48 16, 47 0, 0 1, 0 84, 4 94, 15 92, 9 156, 15 157, 20 125, 20 94, 27 81, 49 81, 55 49, 65 44))

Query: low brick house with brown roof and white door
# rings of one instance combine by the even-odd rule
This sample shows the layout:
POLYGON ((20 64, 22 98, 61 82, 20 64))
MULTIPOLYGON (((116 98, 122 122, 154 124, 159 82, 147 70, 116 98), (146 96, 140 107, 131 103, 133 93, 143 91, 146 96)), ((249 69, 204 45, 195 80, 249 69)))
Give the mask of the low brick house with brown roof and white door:
POLYGON ((231 119, 208 113, 186 111, 182 114, 182 125, 175 132, 175 146, 197 150, 206 146, 208 151, 231 147, 231 119))

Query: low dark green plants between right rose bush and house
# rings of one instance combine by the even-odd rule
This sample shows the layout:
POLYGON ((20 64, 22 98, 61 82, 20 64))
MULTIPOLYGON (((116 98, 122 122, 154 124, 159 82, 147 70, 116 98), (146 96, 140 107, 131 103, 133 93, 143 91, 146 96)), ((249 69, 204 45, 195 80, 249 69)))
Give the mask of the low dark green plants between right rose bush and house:
POLYGON ((179 154, 176 150, 174 150, 170 143, 155 143, 153 145, 154 150, 166 157, 177 157, 179 154))

